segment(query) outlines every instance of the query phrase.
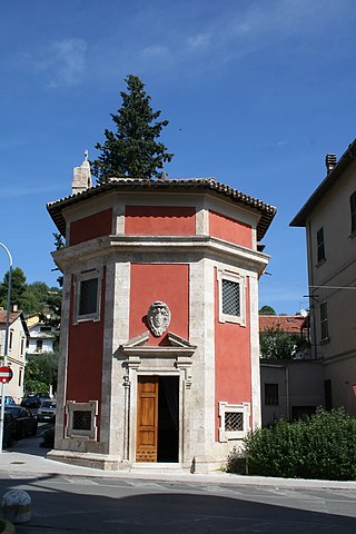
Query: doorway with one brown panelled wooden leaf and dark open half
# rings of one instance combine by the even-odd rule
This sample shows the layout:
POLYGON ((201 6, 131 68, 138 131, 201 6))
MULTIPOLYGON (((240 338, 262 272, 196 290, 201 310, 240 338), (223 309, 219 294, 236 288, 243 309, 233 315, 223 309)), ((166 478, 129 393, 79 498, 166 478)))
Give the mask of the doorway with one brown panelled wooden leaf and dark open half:
POLYGON ((139 376, 136 462, 178 462, 179 377, 139 376))

